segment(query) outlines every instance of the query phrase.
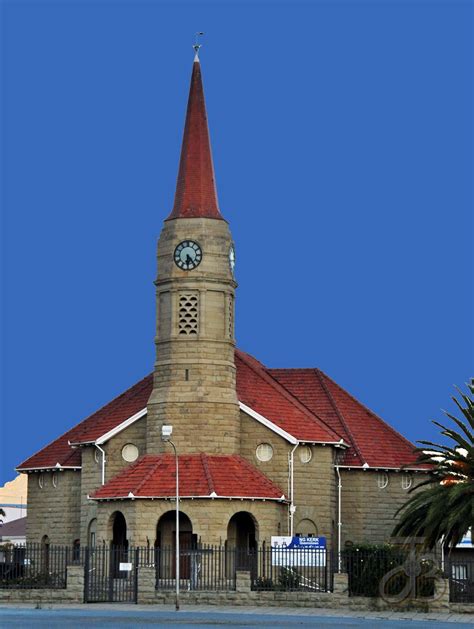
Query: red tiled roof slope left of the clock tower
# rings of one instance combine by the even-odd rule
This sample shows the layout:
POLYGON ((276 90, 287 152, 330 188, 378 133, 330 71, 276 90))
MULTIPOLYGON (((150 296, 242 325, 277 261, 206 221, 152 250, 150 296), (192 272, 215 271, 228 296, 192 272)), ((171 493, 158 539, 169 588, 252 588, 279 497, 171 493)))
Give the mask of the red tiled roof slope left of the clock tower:
POLYGON ((81 453, 70 443, 91 443, 146 407, 153 386, 150 374, 133 387, 74 426, 58 439, 23 461, 18 471, 54 467, 80 467, 81 453))

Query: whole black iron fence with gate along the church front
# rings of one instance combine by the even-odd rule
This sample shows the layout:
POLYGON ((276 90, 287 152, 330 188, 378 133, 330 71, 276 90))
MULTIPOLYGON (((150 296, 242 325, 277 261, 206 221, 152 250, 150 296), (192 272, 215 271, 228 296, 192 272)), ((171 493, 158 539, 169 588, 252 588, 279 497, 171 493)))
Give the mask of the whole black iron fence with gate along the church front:
MULTIPOLYGON (((474 603, 474 559, 410 554, 403 548, 351 547, 341 553, 350 596, 428 598, 435 581, 449 579, 450 601, 474 603)), ((157 590, 176 587, 174 548, 111 548, 27 544, 0 546, 0 589, 65 588, 67 567, 84 566, 85 600, 133 601, 140 568, 152 568, 157 590)), ((255 549, 206 546, 181 548, 182 591, 232 591, 238 571, 250 574, 254 591, 330 592, 338 570, 336 553, 288 550, 262 544, 255 549)))

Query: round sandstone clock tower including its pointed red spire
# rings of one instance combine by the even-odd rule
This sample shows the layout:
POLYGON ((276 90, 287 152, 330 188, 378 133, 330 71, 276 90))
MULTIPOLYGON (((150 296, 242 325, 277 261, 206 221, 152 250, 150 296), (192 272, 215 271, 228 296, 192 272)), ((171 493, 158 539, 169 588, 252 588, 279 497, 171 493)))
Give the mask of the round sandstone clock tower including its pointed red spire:
POLYGON ((182 453, 236 454, 234 248, 217 202, 201 64, 195 58, 173 211, 158 240, 156 362, 147 450, 172 424, 182 453))

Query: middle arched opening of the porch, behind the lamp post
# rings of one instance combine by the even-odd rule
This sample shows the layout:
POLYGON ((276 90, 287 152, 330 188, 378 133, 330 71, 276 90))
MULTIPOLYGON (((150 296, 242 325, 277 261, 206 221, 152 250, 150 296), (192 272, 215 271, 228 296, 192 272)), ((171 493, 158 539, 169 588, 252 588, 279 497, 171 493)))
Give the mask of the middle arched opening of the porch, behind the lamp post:
MULTIPOLYGON (((197 535, 188 516, 179 512, 179 574, 189 579, 192 569, 191 551, 197 547, 197 535)), ((156 566, 159 578, 176 576, 176 511, 167 511, 156 525, 156 566)))

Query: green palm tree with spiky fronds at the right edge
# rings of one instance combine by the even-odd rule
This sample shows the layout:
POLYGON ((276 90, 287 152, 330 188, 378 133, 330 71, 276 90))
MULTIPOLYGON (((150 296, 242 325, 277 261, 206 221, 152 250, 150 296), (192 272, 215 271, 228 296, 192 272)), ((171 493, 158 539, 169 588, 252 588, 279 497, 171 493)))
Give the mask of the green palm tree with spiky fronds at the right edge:
POLYGON ((418 463, 430 466, 428 477, 396 513, 401 517, 393 535, 424 537, 429 548, 440 540, 454 547, 469 529, 474 532, 474 380, 467 386, 468 394, 458 389, 461 401, 451 398, 463 419, 445 411, 455 427, 433 422, 449 445, 419 441, 429 448, 416 448, 418 463))

